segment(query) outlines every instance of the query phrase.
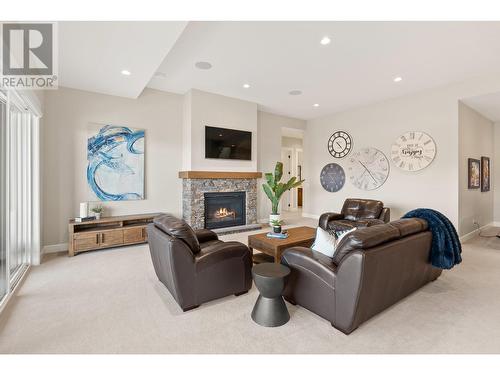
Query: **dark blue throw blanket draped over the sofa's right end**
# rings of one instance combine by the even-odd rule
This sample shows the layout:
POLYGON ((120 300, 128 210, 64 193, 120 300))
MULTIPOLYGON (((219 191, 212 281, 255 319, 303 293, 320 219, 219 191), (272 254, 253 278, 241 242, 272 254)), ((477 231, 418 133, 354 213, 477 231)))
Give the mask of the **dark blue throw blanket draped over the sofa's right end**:
POLYGON ((462 245, 455 227, 446 216, 429 208, 417 208, 407 212, 403 219, 412 217, 424 219, 429 224, 429 230, 432 232, 429 260, 434 267, 449 270, 462 262, 460 255, 462 254, 462 245))

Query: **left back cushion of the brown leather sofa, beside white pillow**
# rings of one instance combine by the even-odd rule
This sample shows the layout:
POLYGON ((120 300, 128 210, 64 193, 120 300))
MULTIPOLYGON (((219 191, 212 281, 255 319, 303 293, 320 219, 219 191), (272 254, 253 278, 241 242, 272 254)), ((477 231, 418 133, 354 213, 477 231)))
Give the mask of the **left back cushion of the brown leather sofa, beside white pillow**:
POLYGON ((399 229, 391 224, 358 228, 358 230, 345 236, 337 245, 333 262, 339 265, 342 259, 352 251, 360 249, 366 250, 385 242, 396 240, 399 237, 399 229))

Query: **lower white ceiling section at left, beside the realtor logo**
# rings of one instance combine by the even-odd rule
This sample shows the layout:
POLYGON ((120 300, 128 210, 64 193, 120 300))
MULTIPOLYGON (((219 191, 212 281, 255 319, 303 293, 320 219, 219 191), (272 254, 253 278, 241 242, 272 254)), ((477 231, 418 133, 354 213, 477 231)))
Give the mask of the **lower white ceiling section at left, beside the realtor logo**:
POLYGON ((137 98, 187 22, 58 24, 60 86, 137 98))

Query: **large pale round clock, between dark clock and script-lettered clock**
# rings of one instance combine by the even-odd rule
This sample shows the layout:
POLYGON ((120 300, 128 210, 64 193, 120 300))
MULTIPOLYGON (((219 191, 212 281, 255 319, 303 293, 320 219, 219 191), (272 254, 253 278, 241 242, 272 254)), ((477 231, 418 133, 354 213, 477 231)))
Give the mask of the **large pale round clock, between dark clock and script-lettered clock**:
POLYGON ((376 148, 363 148, 351 155, 348 170, 354 186, 362 190, 375 190, 389 177, 389 160, 376 148))

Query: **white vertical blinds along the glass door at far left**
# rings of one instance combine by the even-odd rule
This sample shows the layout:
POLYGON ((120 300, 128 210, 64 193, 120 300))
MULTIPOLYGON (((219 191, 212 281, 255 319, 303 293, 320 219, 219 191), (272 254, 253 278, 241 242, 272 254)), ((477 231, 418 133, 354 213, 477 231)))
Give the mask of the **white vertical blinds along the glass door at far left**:
POLYGON ((39 262, 39 161, 36 110, 22 95, 0 93, 0 301, 39 262))

